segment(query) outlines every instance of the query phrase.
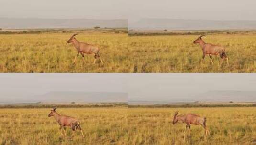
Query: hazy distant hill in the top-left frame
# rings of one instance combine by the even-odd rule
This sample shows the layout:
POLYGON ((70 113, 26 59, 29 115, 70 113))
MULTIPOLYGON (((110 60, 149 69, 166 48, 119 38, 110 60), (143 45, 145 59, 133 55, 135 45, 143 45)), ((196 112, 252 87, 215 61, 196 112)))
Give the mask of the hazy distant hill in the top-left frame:
POLYGON ((93 28, 95 26, 108 28, 127 28, 125 19, 95 20, 95 19, 37 19, 37 18, 0 18, 0 28, 93 28))

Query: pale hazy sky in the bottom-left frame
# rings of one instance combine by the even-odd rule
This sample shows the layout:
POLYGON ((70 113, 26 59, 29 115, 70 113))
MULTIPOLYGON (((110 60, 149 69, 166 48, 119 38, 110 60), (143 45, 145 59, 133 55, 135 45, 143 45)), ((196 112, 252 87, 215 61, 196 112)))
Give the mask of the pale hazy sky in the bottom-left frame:
POLYGON ((122 73, 1 73, 0 80, 0 99, 51 91, 127 92, 122 73))

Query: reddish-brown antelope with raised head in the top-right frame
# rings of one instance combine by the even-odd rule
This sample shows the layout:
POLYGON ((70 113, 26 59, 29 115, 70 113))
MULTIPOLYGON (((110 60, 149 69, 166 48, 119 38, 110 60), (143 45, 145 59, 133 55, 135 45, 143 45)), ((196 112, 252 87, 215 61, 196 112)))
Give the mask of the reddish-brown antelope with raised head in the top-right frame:
MULTIPOLYGON (((199 44, 200 47, 202 48, 203 57, 202 57, 201 62, 203 62, 205 55, 208 54, 209 57, 210 57, 210 59, 211 59, 211 63, 213 64, 211 55, 220 55, 220 57, 222 58, 221 64, 223 63, 223 59, 226 59, 226 60, 227 60, 227 64, 229 65, 228 57, 227 57, 227 55, 226 55, 226 53, 225 53, 225 48, 222 47, 222 46, 213 45, 213 44, 211 44, 211 43, 205 43, 205 42, 202 40, 202 37, 203 37, 203 36, 205 36, 205 35, 202 35, 202 36, 198 37, 198 39, 196 39, 196 40, 193 42, 194 44, 199 44)), ((220 64, 220 65, 221 65, 221 64, 220 64)))

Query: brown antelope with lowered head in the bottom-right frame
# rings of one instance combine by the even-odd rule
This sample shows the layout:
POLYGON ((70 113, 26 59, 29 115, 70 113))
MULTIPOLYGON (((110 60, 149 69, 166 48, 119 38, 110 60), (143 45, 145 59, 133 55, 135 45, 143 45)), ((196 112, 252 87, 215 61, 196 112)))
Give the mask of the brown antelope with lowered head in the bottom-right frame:
POLYGON ((196 114, 184 114, 184 115, 177 115, 177 114, 178 114, 178 111, 176 111, 173 116, 172 124, 176 124, 178 121, 181 121, 182 123, 186 124, 186 128, 184 130, 184 140, 186 138, 187 128, 189 128, 189 131, 190 131, 190 124, 202 125, 205 131, 205 137, 207 136, 207 134, 210 134, 209 130, 206 127, 205 117, 200 117, 199 115, 196 115, 196 114))

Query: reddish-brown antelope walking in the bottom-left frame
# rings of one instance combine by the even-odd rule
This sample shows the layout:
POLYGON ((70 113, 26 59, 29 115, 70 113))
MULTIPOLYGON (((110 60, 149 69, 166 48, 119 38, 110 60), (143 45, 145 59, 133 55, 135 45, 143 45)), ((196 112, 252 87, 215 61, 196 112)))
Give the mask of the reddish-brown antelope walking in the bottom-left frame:
POLYGON ((56 112, 56 109, 57 108, 52 109, 51 113, 48 115, 48 117, 54 116, 55 120, 60 125, 59 130, 60 130, 61 135, 62 136, 67 136, 67 134, 66 134, 66 126, 69 126, 73 130, 71 137, 74 136, 74 133, 75 133, 76 129, 79 129, 81 134, 82 134, 82 136, 84 137, 82 128, 80 126, 80 121, 78 119, 74 118, 74 117, 58 114, 56 112), (64 130, 64 135, 62 133, 62 129, 64 130))

